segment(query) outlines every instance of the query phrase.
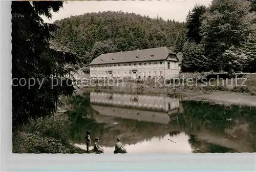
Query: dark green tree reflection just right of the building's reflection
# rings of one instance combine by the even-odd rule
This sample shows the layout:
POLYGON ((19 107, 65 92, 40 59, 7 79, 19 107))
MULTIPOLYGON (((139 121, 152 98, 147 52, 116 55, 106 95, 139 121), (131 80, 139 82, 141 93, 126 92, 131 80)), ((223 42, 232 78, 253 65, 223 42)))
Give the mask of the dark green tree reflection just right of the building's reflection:
POLYGON ((175 122, 184 128, 190 126, 194 130, 206 127, 218 131, 230 127, 235 120, 245 120, 251 129, 256 128, 256 109, 237 105, 224 106, 201 101, 184 101, 183 113, 177 114, 175 122))

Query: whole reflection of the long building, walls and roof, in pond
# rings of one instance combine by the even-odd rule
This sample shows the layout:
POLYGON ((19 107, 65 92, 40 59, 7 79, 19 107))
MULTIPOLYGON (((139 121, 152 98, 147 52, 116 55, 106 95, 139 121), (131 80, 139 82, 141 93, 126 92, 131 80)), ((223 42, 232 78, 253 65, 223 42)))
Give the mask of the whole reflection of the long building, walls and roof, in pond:
POLYGON ((153 95, 91 93, 94 110, 102 115, 167 124, 177 112, 179 99, 153 95))

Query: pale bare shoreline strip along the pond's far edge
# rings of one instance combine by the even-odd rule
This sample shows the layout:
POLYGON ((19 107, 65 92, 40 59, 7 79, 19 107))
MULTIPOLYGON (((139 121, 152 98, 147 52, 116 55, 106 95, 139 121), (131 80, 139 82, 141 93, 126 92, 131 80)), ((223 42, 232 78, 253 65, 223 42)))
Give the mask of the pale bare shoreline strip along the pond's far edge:
POLYGON ((146 95, 167 95, 170 97, 178 97, 181 100, 207 101, 213 104, 223 105, 240 105, 256 107, 256 96, 248 93, 236 93, 230 91, 212 91, 205 92, 202 90, 138 90, 138 89, 104 89, 98 87, 84 87, 76 92, 82 94, 84 92, 108 92, 108 93, 123 93, 123 94, 146 94, 146 95))

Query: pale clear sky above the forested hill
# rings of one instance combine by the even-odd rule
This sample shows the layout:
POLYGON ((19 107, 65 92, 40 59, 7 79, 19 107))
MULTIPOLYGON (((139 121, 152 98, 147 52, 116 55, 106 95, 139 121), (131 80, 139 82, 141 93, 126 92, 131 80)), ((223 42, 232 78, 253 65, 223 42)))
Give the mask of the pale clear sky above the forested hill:
POLYGON ((58 13, 53 13, 52 19, 42 16, 45 22, 53 23, 55 20, 82 15, 91 12, 123 11, 164 20, 175 19, 185 22, 188 11, 196 4, 208 6, 211 0, 170 0, 170 1, 74 1, 64 4, 58 13))

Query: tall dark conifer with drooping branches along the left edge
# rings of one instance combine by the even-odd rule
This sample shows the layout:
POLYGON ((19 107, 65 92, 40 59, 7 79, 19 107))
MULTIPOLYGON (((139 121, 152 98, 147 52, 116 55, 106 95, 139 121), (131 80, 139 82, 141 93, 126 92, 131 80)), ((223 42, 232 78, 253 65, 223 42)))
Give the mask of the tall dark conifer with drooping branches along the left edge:
POLYGON ((67 64, 76 57, 51 48, 56 25, 44 23, 40 15, 52 17, 63 2, 12 2, 12 122, 16 127, 29 118, 51 115, 61 104, 59 96, 74 93, 67 64), (55 79, 53 79, 55 78, 55 79), (54 82, 52 82, 54 81, 54 82), (30 83, 29 83, 30 82, 30 83), (52 87, 52 85, 56 85, 52 87))

